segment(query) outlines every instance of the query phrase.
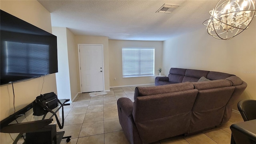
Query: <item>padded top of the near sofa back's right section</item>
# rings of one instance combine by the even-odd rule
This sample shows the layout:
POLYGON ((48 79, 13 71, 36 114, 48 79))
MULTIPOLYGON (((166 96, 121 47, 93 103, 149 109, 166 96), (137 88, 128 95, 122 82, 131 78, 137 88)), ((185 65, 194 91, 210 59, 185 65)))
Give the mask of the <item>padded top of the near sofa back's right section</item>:
POLYGON ((230 82, 230 80, 209 80, 204 82, 192 82, 192 84, 194 84, 195 88, 198 90, 232 86, 232 82, 230 82))

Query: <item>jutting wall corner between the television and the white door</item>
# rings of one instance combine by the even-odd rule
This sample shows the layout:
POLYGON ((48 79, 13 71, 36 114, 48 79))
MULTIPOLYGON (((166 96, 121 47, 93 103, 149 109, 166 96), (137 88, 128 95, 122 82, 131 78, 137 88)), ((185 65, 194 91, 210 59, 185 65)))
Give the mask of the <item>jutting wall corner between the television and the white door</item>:
POLYGON ((80 92, 75 35, 64 27, 52 27, 52 33, 57 36, 58 43, 59 72, 56 74, 58 98, 67 98, 72 101, 80 92))

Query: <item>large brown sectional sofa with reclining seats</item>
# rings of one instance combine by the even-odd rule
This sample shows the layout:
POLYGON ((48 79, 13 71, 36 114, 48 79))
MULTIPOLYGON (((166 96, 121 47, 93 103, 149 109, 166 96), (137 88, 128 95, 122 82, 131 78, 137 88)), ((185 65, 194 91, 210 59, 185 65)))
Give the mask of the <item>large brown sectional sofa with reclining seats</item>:
POLYGON ((136 87, 134 102, 117 101, 119 122, 131 144, 220 126, 230 119, 232 105, 247 86, 232 74, 182 68, 171 68, 168 77, 157 79, 162 86, 136 87), (202 76, 209 80, 197 82, 202 76))

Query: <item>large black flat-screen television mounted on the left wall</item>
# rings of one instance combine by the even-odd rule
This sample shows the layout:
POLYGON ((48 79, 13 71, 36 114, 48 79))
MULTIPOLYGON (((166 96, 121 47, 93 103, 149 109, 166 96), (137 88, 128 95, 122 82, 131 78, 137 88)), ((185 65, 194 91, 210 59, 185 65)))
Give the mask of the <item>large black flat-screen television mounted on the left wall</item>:
POLYGON ((1 10, 1 85, 58 72, 57 37, 1 10))

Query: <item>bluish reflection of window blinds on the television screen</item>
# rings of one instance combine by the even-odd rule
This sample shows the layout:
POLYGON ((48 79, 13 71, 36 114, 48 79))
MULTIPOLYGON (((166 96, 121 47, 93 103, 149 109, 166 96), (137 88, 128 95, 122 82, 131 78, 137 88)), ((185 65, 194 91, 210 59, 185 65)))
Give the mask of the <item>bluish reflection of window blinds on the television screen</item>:
POLYGON ((8 68, 6 73, 48 74, 49 46, 45 44, 29 44, 6 42, 8 68))

